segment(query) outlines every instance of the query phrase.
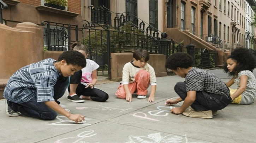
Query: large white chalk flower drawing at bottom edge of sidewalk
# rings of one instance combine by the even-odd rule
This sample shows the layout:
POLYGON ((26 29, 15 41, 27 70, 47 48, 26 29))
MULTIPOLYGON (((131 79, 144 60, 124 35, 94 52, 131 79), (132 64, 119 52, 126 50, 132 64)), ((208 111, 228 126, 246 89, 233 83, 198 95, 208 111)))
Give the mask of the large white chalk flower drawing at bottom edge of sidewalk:
MULTIPOLYGON (((129 136, 129 142, 126 143, 192 143, 189 142, 186 135, 167 135, 161 136, 161 133, 149 134, 145 136, 129 136)), ((193 142, 196 143, 196 142, 193 142)), ((198 142, 199 143, 199 142, 198 142)))

